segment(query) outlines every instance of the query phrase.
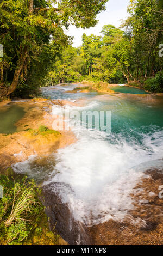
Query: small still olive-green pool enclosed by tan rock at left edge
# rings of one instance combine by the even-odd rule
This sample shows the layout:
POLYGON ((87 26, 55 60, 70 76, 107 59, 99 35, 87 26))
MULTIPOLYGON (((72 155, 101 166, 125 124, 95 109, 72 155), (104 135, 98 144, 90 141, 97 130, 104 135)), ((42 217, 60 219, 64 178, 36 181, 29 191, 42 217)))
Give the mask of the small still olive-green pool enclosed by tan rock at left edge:
POLYGON ((26 112, 17 105, 0 107, 0 133, 14 133, 17 130, 15 123, 20 120, 26 112))

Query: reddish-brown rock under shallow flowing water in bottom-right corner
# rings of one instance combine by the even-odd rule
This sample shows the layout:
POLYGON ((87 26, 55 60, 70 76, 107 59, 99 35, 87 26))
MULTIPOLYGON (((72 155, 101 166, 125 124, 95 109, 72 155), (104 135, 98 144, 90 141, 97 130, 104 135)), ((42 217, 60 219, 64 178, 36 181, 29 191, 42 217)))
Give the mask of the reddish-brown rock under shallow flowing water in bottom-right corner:
POLYGON ((96 245, 162 245, 163 199, 159 187, 163 184, 163 168, 148 169, 131 193, 134 208, 122 222, 109 220, 89 228, 96 245))

